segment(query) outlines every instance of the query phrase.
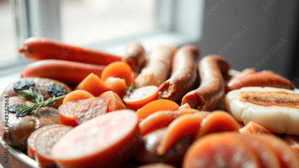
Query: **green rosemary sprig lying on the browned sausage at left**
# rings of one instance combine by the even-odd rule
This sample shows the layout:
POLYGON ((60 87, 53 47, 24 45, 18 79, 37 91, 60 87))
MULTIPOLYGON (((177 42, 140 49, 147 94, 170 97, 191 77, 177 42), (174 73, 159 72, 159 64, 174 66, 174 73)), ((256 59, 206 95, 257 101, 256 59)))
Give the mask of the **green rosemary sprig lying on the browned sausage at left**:
POLYGON ((19 106, 16 109, 16 111, 18 111, 20 113, 28 114, 28 113, 32 112, 33 110, 35 110, 35 115, 36 115, 36 112, 39 112, 39 109, 41 107, 51 106, 51 105, 55 104, 55 101, 65 98, 66 95, 67 94, 58 96, 58 97, 53 96, 53 97, 49 98, 48 100, 36 102, 32 106, 19 106))

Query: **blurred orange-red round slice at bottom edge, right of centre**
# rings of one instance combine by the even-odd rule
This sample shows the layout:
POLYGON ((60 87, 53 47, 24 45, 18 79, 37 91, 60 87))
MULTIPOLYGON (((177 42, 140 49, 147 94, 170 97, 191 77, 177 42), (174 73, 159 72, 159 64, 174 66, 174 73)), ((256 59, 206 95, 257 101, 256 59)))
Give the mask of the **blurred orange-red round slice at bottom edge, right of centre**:
POLYGON ((235 138, 236 133, 206 135, 188 148, 182 168, 259 167, 254 149, 235 138))

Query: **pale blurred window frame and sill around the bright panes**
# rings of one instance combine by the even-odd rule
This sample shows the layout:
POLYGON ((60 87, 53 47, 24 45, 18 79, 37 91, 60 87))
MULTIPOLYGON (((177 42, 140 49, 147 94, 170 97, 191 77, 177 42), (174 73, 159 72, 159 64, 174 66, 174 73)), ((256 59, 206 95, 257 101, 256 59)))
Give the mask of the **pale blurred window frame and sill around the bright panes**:
MULTIPOLYGON (((204 0, 156 0, 155 19, 163 22, 165 27, 144 33, 138 41, 144 46, 146 52, 159 43, 179 47, 187 43, 197 43, 202 38, 203 21, 200 16, 204 12, 204 0), (187 12, 186 12, 187 11, 187 12), (189 21, 186 18, 193 18, 189 21), (186 38, 187 37, 187 38, 186 38)), ((36 35, 34 28, 43 24, 44 18, 51 21, 48 27, 38 33, 38 36, 61 39, 60 28, 60 1, 23 0, 16 5, 18 44, 29 37, 36 35), (46 7, 46 8, 45 8, 46 7), (42 10, 41 10, 42 9, 42 10), (57 9, 55 12, 51 9, 57 9)), ((89 47, 115 53, 115 49, 122 46, 128 38, 105 41, 105 43, 92 44, 89 47)), ((18 46, 19 47, 19 46, 18 46)), ((22 56, 17 60, 0 63, 0 74, 15 72, 16 67, 25 67, 30 61, 22 56)))

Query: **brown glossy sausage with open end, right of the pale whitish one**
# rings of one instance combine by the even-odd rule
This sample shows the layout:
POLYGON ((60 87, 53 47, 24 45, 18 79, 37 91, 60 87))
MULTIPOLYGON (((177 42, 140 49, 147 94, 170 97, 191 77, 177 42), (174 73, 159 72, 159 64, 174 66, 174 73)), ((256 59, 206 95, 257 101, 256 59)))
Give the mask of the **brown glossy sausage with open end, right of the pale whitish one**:
POLYGON ((184 45, 178 49, 173 56, 170 78, 159 86, 160 97, 177 101, 193 89, 197 80, 195 61, 198 57, 195 45, 184 45))

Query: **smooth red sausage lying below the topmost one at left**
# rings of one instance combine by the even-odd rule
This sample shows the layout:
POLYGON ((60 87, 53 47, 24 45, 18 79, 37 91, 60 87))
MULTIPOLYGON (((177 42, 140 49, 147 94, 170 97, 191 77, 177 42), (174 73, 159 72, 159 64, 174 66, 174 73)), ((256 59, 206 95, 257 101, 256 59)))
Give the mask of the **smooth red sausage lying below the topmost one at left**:
POLYGON ((22 77, 51 78, 77 85, 90 73, 100 76, 104 67, 104 65, 48 59, 28 64, 22 72, 22 77))

